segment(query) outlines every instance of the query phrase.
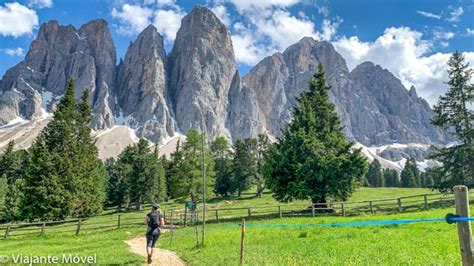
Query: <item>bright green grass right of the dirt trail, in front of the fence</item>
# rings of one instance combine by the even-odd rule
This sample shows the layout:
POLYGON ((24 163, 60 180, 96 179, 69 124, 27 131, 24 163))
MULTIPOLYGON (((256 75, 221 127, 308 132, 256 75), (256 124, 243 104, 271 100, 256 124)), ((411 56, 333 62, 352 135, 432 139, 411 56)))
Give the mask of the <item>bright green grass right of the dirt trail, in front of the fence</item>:
MULTIPOLYGON (((444 217, 453 209, 363 217, 283 218, 252 224, 308 224, 444 217)), ((240 228, 235 223, 207 227, 205 247, 196 248, 194 228, 180 229, 172 249, 191 265, 238 265, 240 228)), ((458 264, 456 225, 445 222, 370 227, 247 227, 247 265, 452 265, 458 264)))

